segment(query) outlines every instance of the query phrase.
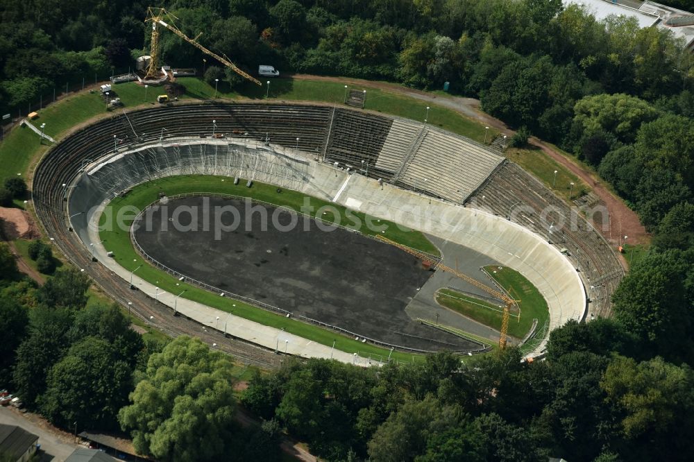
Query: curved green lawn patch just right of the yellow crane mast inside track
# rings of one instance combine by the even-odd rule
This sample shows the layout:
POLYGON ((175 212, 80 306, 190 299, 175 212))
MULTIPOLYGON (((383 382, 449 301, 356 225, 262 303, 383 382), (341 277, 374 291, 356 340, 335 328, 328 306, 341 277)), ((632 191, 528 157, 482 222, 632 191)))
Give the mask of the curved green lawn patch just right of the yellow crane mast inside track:
POLYGON ((511 316, 509 334, 522 339, 532 327, 532 320, 537 319, 537 329, 541 329, 550 317, 547 301, 539 290, 521 273, 506 266, 486 266, 487 273, 498 282, 515 300, 520 300, 521 318, 511 316), (495 273, 496 271, 496 273, 495 273), (514 334, 515 332, 516 334, 514 334))

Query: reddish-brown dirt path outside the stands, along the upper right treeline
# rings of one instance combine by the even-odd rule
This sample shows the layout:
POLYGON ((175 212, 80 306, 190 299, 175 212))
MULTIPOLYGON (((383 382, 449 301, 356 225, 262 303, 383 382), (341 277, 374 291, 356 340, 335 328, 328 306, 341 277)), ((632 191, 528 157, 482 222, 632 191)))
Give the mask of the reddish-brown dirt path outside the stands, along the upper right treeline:
MULTIPOLYGON (((393 93, 403 94, 405 96, 420 99, 421 101, 436 103, 445 108, 455 110, 465 117, 481 121, 485 125, 496 128, 504 135, 509 137, 515 133, 514 130, 508 128, 506 124, 499 119, 491 117, 489 114, 482 112, 482 110, 480 110, 480 100, 477 99, 463 98, 461 96, 438 96, 436 94, 422 92, 418 89, 401 87, 400 85, 396 85, 394 83, 373 82, 371 80, 363 80, 360 78, 311 76, 308 74, 294 74, 290 76, 298 80, 323 80, 327 82, 339 82, 346 83, 348 85, 378 88, 393 93)), ((552 146, 548 146, 548 144, 542 142, 541 139, 532 137, 530 139, 530 144, 537 146, 557 163, 566 167, 566 169, 568 169, 575 176, 584 180, 586 185, 590 185, 595 194, 600 196, 602 203, 604 203, 604 205, 607 207, 611 217, 611 230, 602 232, 600 228, 596 227, 596 229, 604 234, 605 239, 610 239, 611 243, 613 244, 618 243, 621 230, 621 234, 629 236, 629 241, 632 243, 648 243, 650 235, 648 232, 646 232, 645 228, 641 224, 641 221, 639 221, 636 212, 629 209, 621 198, 609 191, 607 187, 604 187, 604 184, 600 178, 596 177, 592 172, 586 171, 586 169, 584 169, 582 166, 576 164, 573 162, 573 160, 565 155, 562 155, 555 148, 552 148, 552 146)))

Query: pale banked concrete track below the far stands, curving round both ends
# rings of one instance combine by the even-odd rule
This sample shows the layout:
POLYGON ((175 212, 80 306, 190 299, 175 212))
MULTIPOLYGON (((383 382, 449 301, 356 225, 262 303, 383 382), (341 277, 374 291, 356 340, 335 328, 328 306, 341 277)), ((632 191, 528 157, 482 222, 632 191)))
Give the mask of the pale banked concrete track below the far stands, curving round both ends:
MULTIPOLYGON (((90 223, 98 220, 101 207, 119 192, 154 178, 190 173, 252 178, 402 223, 489 255, 525 275, 539 289, 550 310, 549 330, 567 320, 581 320, 585 316, 586 293, 573 265, 559 250, 521 225, 336 169, 298 149, 239 141, 167 139, 92 160, 67 189, 66 216, 72 216, 71 226, 87 249, 94 243, 99 252, 104 253, 106 249, 99 244, 98 234, 93 226, 90 228, 90 223)), ((199 316, 205 320, 200 321, 208 322, 208 317, 214 314, 203 311, 199 316)), ((196 312, 191 311, 192 314, 196 312)), ((263 330, 267 329, 270 328, 263 330)), ((257 332, 248 332, 253 336, 248 341, 260 343, 257 332)), ((278 335, 278 332, 271 333, 262 342, 271 343, 265 346, 275 348, 278 335)), ((529 356, 543 354, 546 340, 545 337, 529 356)), ((327 357, 325 349, 314 347, 315 352, 292 352, 327 357)))

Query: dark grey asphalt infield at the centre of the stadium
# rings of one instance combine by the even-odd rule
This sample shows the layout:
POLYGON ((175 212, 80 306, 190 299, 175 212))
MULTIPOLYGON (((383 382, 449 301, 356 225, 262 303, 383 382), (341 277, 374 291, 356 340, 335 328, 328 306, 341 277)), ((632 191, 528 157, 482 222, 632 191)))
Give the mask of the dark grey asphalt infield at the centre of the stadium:
POLYGON ((153 207, 135 238, 169 268, 295 318, 418 350, 477 346, 407 316, 405 307, 433 273, 358 232, 327 231, 313 219, 246 200, 191 197, 153 207))

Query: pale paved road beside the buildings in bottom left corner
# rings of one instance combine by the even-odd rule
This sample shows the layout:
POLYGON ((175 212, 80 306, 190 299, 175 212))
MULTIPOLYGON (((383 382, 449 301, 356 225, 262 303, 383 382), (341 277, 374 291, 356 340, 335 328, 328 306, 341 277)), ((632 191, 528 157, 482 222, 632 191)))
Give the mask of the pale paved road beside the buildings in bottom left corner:
POLYGON ((23 414, 14 408, 0 407, 0 423, 18 425, 37 435, 43 453, 40 459, 42 462, 65 461, 77 447, 80 447, 71 443, 71 435, 51 427, 45 420, 34 414, 23 414))

